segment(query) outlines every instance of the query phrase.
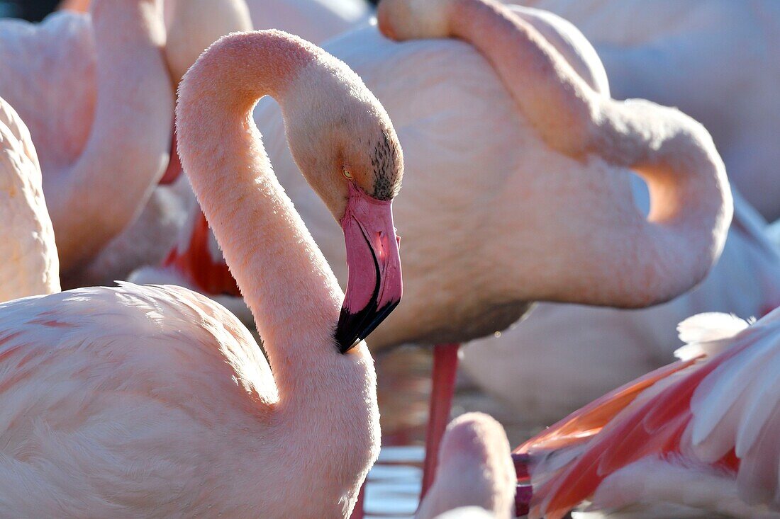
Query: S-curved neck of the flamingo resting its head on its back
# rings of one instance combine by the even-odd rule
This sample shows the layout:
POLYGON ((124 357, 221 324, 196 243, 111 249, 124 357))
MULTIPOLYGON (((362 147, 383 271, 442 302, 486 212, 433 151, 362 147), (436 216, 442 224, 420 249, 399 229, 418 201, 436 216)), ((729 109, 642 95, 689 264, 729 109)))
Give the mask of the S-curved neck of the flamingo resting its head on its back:
POLYGON ((732 201, 725 167, 701 125, 647 101, 597 94, 533 26, 493 0, 384 2, 390 13, 383 19, 380 5, 385 34, 410 37, 412 26, 413 37, 453 36, 473 44, 549 147, 578 161, 595 155, 633 168, 647 181, 652 202, 647 221, 633 207, 629 214, 619 209, 625 204, 615 203, 611 219, 619 227, 603 226, 603 235, 591 240, 599 244, 588 251, 595 270, 585 272, 582 258, 573 257, 562 270, 576 275, 560 276, 559 286, 545 295, 643 306, 666 301, 707 274, 725 242, 732 201), (398 5, 406 5, 406 19, 398 5), (388 19, 392 16, 397 19, 388 19))

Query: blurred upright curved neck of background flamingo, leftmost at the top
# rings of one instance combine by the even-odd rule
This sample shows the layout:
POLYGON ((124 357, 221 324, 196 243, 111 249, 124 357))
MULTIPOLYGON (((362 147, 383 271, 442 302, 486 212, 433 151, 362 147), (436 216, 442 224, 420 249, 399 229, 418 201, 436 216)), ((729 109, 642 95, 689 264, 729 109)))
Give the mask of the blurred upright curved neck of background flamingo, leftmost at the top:
POLYGON ((83 153, 52 186, 67 272, 133 221, 165 166, 173 95, 159 0, 100 0, 92 11, 97 105, 83 153))

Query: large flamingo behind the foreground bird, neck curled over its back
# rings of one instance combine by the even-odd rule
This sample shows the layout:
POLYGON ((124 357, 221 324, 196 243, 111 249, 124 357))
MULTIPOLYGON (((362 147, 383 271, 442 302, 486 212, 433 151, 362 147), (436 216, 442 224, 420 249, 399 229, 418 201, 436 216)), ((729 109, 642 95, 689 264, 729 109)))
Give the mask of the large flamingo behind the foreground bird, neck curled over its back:
MULTIPOLYGON (((441 344, 436 379, 453 380, 456 346, 446 344, 507 327, 531 302, 639 307, 706 274, 732 205, 722 161, 700 125, 670 108, 597 94, 605 77, 573 44, 576 30, 554 16, 493 2, 433 2, 418 12, 421 5, 380 6, 382 29, 406 40, 408 24, 417 37, 465 41, 398 44, 366 26, 326 45, 383 101, 414 171, 395 205, 405 229, 406 295, 374 330, 372 349, 441 344), (406 9, 419 15, 415 22, 406 9), (433 31, 434 16, 458 32, 433 31), (651 185, 650 221, 633 203, 629 168, 651 185)), ((270 102, 255 111, 280 182, 343 282, 339 228, 294 178, 280 121, 270 102)), ((438 383, 434 393, 444 397, 432 400, 424 488, 452 387, 438 383)))

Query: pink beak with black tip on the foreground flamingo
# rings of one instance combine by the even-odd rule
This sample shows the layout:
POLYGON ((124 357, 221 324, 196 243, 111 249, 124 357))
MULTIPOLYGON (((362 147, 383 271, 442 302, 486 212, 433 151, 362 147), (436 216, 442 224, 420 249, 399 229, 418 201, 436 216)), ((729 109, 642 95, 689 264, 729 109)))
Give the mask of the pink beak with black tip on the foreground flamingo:
POLYGON ((346 353, 401 302, 401 239, 393 227, 392 202, 375 199, 352 182, 341 225, 349 277, 335 341, 346 353))

